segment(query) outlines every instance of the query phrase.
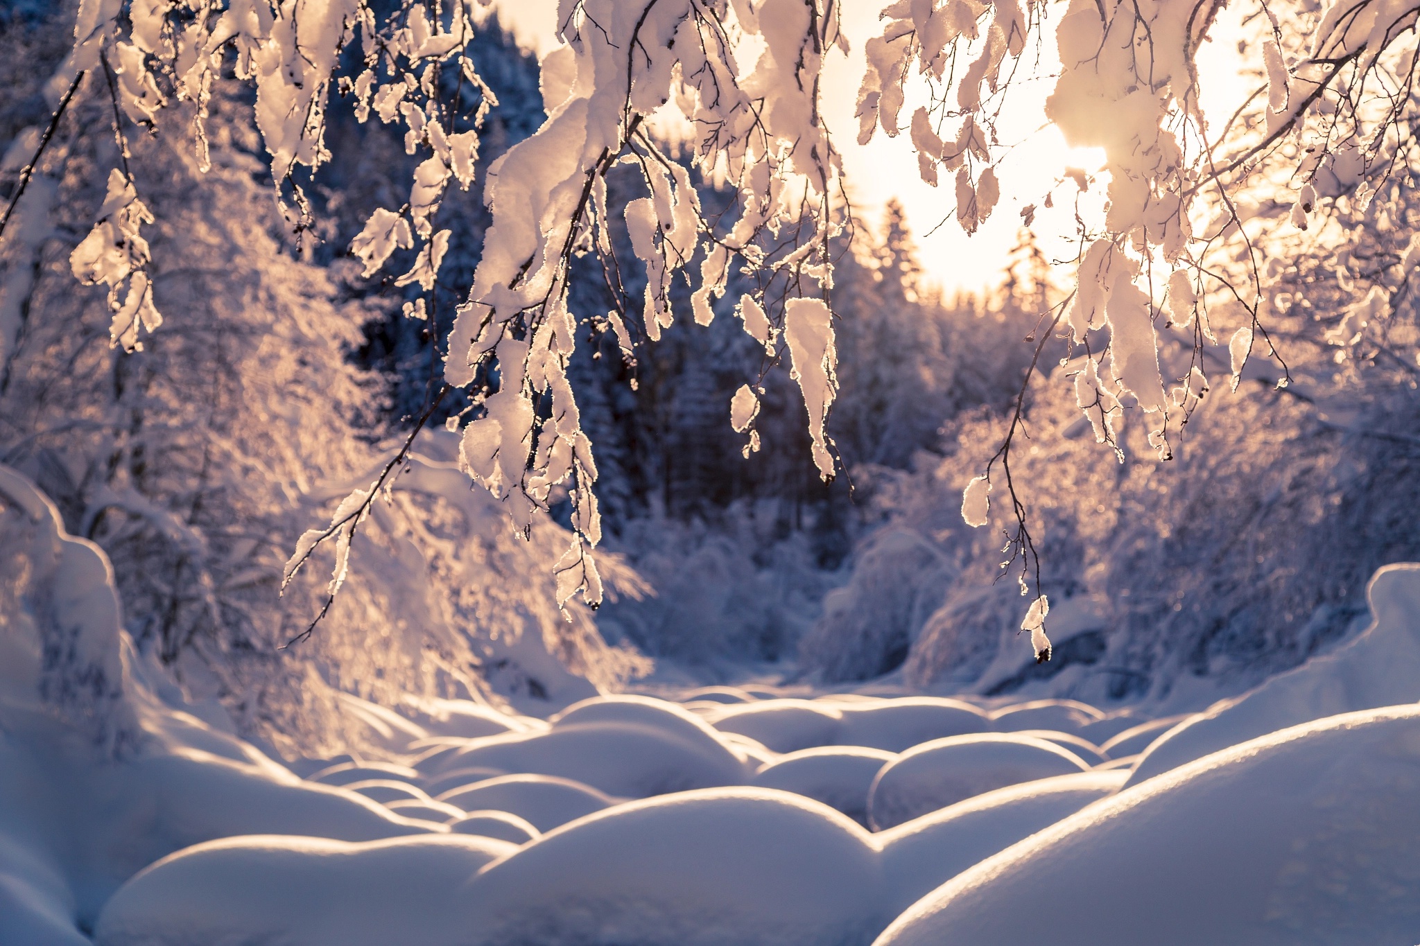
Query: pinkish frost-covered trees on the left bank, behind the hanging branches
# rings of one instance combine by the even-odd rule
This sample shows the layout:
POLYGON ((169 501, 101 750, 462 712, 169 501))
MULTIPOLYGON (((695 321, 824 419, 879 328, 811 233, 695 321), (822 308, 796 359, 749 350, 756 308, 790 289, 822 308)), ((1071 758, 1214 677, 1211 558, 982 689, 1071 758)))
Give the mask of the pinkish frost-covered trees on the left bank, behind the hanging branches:
MULTIPOLYGON (((7 34, 7 48, 43 48, 47 28, 7 34)), ((28 98, 40 81, 31 71, 9 87, 7 126, 44 108, 28 98)), ((551 566, 567 530, 544 521, 524 542, 497 528, 493 501, 460 485, 456 450, 429 437, 365 511, 351 547, 371 572, 352 570, 322 635, 278 650, 328 593, 312 570, 277 594, 301 530, 382 467, 359 425, 376 408, 373 379, 348 362, 369 309, 338 304, 331 271, 284 243, 240 89, 216 85, 207 111, 206 172, 180 139, 131 143, 156 217, 153 298, 178 319, 142 352, 109 346, 104 286, 70 274, 105 200, 92 169, 116 160, 108 102, 71 105, 17 206, 24 240, 4 247, 0 462, 109 553, 128 631, 283 752, 379 750, 338 692, 559 705, 643 669, 601 642, 584 607, 558 613, 551 566)), ((604 569, 639 587, 616 559, 604 569)), ((87 672, 80 657, 54 672, 87 672)))

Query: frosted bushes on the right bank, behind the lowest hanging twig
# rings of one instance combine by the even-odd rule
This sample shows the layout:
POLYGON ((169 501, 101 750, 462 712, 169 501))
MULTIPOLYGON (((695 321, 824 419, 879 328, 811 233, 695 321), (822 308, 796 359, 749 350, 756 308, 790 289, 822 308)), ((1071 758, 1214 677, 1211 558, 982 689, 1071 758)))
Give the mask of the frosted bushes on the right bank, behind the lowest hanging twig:
MULTIPOLYGON (((1058 387, 1034 389, 1030 447, 1014 465, 1044 538, 1056 654, 1035 665, 1015 640, 1028 600, 1014 580, 997 581, 1010 509, 993 505, 990 529, 961 525, 960 491, 1000 437, 1000 421, 978 417, 957 427, 950 457, 878 494, 892 522, 932 536, 960 569, 907 655, 909 681, 1108 701, 1207 677, 1237 692, 1336 641, 1365 613, 1369 574, 1420 555, 1406 525, 1420 508, 1414 448, 1389 434, 1420 416, 1404 384, 1377 377, 1348 394, 1326 379, 1328 397, 1365 404, 1343 424, 1302 380, 1216 390, 1174 460, 1149 458, 1135 437, 1122 441, 1125 464, 1096 451, 1058 387)), ((905 556, 897 570, 919 563, 905 556)), ((907 584, 899 608, 913 600, 907 584)), ((805 648, 812 665, 838 660, 825 628, 805 648)))

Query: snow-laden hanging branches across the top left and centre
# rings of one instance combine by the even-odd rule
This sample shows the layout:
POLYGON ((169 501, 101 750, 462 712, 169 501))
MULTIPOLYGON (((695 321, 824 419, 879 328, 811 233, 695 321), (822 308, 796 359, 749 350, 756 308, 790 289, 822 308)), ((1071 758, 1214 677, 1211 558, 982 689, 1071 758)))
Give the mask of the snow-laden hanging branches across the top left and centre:
MULTIPOLYGON (((396 250, 416 250, 396 285, 432 292, 450 237, 435 228, 439 203, 452 184, 473 183, 480 126, 496 105, 466 55, 477 13, 469 1, 406 4, 382 18, 364 0, 85 0, 74 50, 53 87, 72 94, 85 74, 102 75, 115 121, 122 111, 142 126, 155 126, 173 99, 195 102, 199 163, 206 165, 207 98, 233 55, 237 77, 256 87, 257 126, 281 206, 298 230, 311 223, 301 179, 332 159, 327 99, 339 88, 354 96, 359 121, 376 115, 400 123, 406 150, 425 155, 408 201, 376 208, 351 250, 365 275, 396 250), (356 43, 364 68, 345 75, 345 47, 356 43), (444 71, 459 77, 452 101, 443 99, 444 71), (477 95, 471 115, 464 84, 477 95)), ((798 0, 578 1, 564 3, 558 21, 567 45, 544 68, 547 122, 488 173, 484 199, 493 224, 449 336, 444 377, 454 387, 483 389, 479 416, 464 428, 460 462, 503 502, 517 529, 530 528, 552 489, 568 485, 577 540, 557 564, 558 600, 582 591, 595 606, 602 599, 589 556, 601 539, 596 464, 567 377, 577 336, 568 285, 575 255, 608 250, 605 174, 616 163, 639 167, 649 193, 625 210, 648 274, 640 313, 646 333, 656 339, 670 325, 672 281, 697 252, 703 285, 693 309, 700 323, 713 319, 711 302, 726 291, 736 258, 780 274, 778 295, 771 299, 761 285, 748 312, 770 311, 782 322, 792 376, 809 406, 815 464, 822 477, 834 474, 824 421, 836 380, 824 298, 832 285, 826 252, 838 162, 818 113, 818 74, 839 40, 836 17, 798 0), (737 61, 748 37, 763 43, 753 64, 737 61), (646 133, 646 119, 667 104, 693 122, 694 163, 733 183, 736 213, 703 214, 686 169, 667 160, 646 133), (784 299, 791 284, 792 298, 784 299)), ((138 328, 151 330, 160 316, 143 269, 139 228, 148 218, 129 193, 128 163, 115 174, 115 191, 74 268, 109 285, 114 339, 132 347, 138 328)), ((417 316, 427 308, 420 299, 408 312, 417 316)), ((625 318, 623 311, 608 316, 613 325, 625 318)), ((368 502, 369 495, 352 494, 352 526, 368 502)), ((332 594, 338 586, 337 577, 332 594)))

